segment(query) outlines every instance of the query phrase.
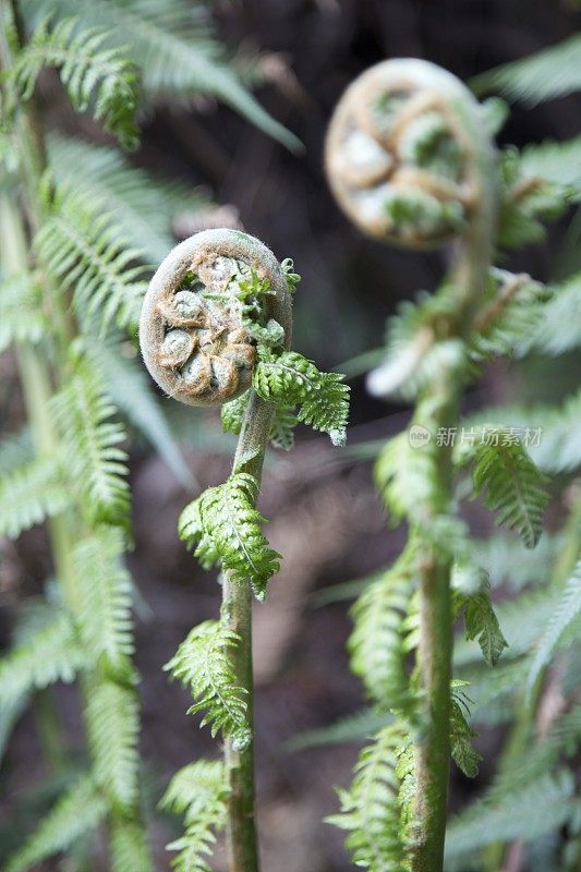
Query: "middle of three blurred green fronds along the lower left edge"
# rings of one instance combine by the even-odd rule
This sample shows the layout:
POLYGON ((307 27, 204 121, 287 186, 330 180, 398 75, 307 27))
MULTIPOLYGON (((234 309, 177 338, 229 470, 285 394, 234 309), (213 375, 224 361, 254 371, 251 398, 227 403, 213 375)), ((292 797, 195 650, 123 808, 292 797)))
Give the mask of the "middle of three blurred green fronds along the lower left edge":
POLYGON ((41 626, 0 658, 1 706, 12 706, 32 690, 73 681, 86 653, 70 616, 51 609, 41 626))

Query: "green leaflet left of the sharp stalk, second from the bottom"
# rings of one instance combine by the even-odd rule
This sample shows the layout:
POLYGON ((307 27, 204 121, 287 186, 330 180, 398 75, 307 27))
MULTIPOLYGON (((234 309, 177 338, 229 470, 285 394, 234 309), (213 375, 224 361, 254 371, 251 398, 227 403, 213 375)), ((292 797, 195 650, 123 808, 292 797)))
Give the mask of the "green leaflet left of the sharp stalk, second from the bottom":
POLYGON ((246 715, 247 691, 235 686, 230 661, 240 638, 217 620, 194 627, 178 652, 164 667, 182 685, 190 687, 196 702, 187 714, 204 712, 201 726, 211 735, 221 732, 242 751, 252 740, 246 715))

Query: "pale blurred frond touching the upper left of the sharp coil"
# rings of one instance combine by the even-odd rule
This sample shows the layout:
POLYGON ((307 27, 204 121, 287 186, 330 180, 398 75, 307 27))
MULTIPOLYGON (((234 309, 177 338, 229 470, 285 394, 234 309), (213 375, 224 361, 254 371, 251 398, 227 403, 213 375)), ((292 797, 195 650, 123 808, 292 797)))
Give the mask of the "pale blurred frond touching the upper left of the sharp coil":
POLYGON ((133 167, 116 148, 52 134, 48 155, 58 186, 82 192, 87 204, 107 211, 128 245, 144 251, 152 264, 173 246, 174 219, 209 205, 203 192, 133 167), (71 167, 76 166, 83 172, 72 177, 71 167))

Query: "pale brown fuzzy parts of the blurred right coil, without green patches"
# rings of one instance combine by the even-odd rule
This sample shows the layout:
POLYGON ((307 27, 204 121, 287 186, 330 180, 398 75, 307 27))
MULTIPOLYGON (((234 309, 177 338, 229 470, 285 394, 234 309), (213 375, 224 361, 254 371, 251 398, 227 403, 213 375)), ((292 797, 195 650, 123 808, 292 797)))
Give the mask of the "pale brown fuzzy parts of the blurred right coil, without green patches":
POLYGON ((385 204, 397 192, 417 192, 439 203, 459 204, 467 218, 474 206, 470 142, 450 95, 461 86, 448 73, 421 61, 390 60, 372 66, 346 90, 335 110, 326 144, 329 184, 347 216, 372 237, 410 247, 432 247, 453 239, 458 231, 426 234, 400 226, 385 204), (382 100, 389 100, 386 110, 382 100), (436 112, 460 154, 458 178, 447 179, 407 165, 400 147, 410 125, 426 112, 436 112))

